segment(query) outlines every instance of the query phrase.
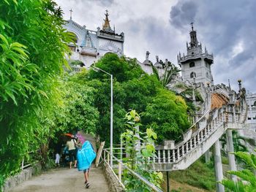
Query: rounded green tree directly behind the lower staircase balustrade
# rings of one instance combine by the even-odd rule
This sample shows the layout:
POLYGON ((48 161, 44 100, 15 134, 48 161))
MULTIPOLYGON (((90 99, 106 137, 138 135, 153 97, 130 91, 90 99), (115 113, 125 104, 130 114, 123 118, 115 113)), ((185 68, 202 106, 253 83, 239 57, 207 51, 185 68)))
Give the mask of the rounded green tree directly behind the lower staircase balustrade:
POLYGON ((178 139, 189 127, 187 105, 181 96, 159 88, 158 94, 142 113, 146 127, 152 127, 163 139, 178 139))

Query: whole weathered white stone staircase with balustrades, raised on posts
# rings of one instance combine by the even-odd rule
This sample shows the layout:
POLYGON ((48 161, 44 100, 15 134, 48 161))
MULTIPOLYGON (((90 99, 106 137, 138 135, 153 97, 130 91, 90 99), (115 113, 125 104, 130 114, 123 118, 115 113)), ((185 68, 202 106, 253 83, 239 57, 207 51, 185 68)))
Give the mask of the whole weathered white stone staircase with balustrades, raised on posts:
POLYGON ((184 134, 183 141, 178 144, 168 141, 165 145, 157 146, 156 156, 148 158, 151 169, 158 171, 187 169, 206 153, 227 129, 244 128, 247 108, 243 102, 240 101, 240 107, 222 105, 219 109, 209 110, 192 128, 189 128, 184 134))

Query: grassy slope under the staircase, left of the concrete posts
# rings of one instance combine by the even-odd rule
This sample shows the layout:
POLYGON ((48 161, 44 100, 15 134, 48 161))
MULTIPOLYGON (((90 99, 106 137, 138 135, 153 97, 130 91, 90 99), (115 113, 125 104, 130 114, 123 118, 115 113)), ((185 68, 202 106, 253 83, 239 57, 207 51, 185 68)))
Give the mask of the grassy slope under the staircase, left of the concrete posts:
POLYGON ((170 172, 170 178, 179 183, 187 183, 196 188, 203 188, 208 191, 215 190, 214 167, 200 160, 195 161, 195 163, 186 170, 170 172))

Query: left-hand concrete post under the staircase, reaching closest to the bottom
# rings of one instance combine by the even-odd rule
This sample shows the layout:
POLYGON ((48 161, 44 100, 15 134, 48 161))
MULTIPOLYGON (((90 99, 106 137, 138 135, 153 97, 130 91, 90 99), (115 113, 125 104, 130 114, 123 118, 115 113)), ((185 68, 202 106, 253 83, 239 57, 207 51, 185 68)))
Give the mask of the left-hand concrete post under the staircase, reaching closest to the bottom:
MULTIPOLYGON (((223 172, 222 172, 222 156, 220 154, 220 145, 219 139, 214 143, 214 169, 215 169, 215 178, 216 181, 223 180, 223 172)), ((216 183, 217 192, 225 192, 224 185, 220 183, 216 183)))

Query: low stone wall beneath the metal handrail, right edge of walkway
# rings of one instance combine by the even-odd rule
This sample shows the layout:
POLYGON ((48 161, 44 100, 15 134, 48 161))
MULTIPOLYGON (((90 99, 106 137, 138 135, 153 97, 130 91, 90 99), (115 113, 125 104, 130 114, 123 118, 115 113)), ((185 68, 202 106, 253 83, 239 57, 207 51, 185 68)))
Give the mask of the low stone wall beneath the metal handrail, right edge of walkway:
POLYGON ((111 171, 110 167, 107 164, 103 164, 103 170, 105 174, 105 178, 108 182, 108 186, 111 192, 122 192, 125 191, 124 188, 118 182, 115 174, 111 171))

